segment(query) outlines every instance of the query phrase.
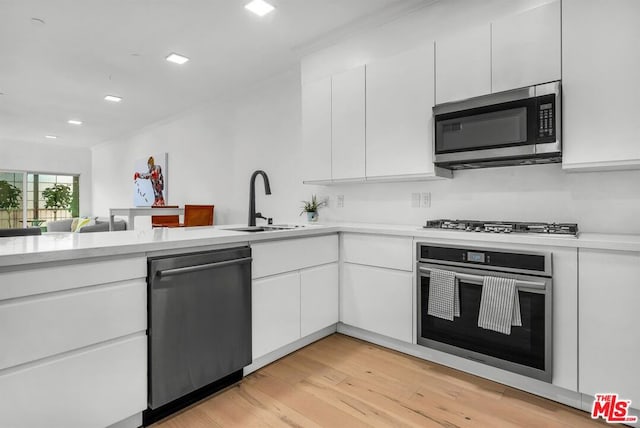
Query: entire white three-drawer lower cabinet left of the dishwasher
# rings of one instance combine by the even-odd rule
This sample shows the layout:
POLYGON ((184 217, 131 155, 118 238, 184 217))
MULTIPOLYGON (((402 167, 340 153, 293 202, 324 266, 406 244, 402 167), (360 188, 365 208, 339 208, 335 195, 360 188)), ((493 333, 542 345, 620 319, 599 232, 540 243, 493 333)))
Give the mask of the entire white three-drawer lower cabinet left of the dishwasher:
POLYGON ((146 262, 0 269, 0 427, 102 428, 147 407, 146 262))

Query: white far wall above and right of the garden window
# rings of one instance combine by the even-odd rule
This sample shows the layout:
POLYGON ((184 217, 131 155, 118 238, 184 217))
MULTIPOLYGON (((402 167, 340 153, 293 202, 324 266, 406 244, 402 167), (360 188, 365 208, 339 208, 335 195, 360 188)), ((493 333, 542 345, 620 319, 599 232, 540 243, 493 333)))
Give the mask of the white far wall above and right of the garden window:
POLYGON ((91 151, 57 144, 0 141, 0 170, 80 175, 80 215, 91 215, 91 151))

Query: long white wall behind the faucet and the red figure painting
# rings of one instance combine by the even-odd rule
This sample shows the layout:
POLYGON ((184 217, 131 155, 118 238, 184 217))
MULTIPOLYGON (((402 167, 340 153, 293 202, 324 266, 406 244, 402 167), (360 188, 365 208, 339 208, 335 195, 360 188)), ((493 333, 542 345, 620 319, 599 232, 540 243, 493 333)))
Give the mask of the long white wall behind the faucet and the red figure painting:
MULTIPOLYGON (((298 221, 299 201, 310 195, 300 170, 299 76, 298 69, 291 70, 233 100, 194 108, 95 147, 95 214, 133 206, 134 160, 167 152, 169 204, 212 203, 216 224, 246 223, 249 179, 262 169, 272 195, 264 194, 258 178, 257 210, 275 222, 298 221)), ((148 226, 140 220, 136 224, 148 226)))

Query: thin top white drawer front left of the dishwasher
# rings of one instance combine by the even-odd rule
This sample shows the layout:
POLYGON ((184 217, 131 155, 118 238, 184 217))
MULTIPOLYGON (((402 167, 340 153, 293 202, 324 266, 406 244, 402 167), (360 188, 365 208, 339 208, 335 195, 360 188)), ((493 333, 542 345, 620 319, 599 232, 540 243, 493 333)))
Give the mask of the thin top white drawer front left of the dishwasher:
POLYGON ((79 264, 60 263, 0 272, 0 300, 146 276, 146 257, 86 261, 79 264))

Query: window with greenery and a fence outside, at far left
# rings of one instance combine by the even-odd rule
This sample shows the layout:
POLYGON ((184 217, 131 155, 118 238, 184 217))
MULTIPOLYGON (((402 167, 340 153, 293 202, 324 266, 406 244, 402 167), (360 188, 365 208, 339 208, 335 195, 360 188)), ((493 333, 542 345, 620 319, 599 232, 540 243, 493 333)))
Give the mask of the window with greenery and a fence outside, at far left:
MULTIPOLYGON (((18 206, 0 211, 0 227, 41 226, 49 220, 78 217, 80 213, 80 177, 78 175, 48 174, 39 172, 3 172, 0 171, 0 210, 4 206, 12 206, 10 202, 3 205, 2 189, 14 186, 19 191, 18 206), (71 193, 68 206, 51 203, 47 206, 44 193, 56 185, 66 186, 71 193), (25 191, 26 189, 26 191, 25 191), (26 221, 24 221, 26 219, 26 221)), ((15 191, 13 191, 15 193, 15 191)))

